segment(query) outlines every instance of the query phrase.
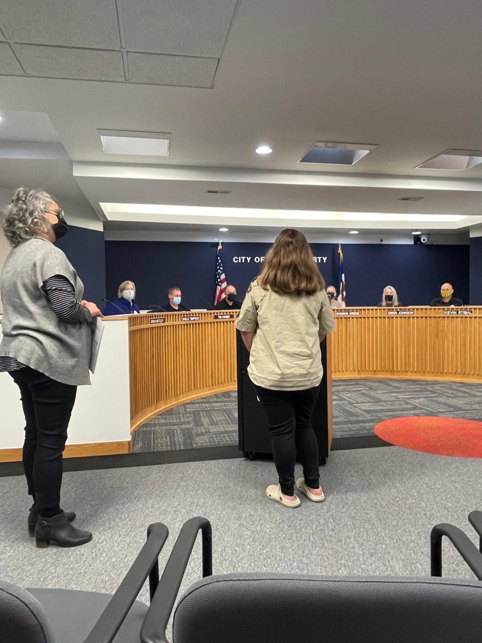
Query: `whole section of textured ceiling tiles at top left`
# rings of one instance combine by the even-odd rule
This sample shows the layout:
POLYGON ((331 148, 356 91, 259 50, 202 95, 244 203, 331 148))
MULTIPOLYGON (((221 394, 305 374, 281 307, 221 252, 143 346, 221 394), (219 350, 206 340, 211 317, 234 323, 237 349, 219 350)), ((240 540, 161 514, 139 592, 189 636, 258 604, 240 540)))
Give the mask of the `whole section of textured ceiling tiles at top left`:
POLYGON ((0 73, 213 87, 236 0, 2 4, 0 73))

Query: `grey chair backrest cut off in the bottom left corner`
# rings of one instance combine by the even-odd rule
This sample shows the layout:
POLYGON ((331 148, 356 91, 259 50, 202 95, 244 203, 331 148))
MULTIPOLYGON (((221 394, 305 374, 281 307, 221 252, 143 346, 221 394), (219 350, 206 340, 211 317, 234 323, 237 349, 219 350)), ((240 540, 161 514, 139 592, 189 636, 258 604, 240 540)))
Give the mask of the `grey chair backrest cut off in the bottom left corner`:
POLYGON ((5 643, 54 643, 39 601, 23 588, 0 581, 0 640, 5 643))

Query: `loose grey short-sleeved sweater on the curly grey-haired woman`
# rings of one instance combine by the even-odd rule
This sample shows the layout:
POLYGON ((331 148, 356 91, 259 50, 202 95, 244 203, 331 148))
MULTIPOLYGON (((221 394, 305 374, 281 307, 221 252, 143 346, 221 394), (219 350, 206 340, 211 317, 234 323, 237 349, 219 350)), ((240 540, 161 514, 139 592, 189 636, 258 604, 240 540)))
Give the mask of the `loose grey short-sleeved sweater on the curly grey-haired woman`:
POLYGON ((77 321, 67 323, 55 315, 42 287, 55 275, 66 277, 76 299, 82 299, 84 284, 62 250, 40 237, 12 248, 0 281, 0 355, 63 384, 90 384, 91 315, 84 307, 77 321))

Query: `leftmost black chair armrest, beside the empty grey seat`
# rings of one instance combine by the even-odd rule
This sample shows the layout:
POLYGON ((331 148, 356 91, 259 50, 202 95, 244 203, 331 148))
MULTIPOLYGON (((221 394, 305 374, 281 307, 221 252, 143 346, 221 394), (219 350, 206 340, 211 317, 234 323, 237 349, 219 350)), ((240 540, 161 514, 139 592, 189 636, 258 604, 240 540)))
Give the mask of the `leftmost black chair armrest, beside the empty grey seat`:
POLYGON ((163 523, 149 525, 144 547, 84 643, 112 643, 147 577, 155 582, 156 570, 159 577, 157 558, 168 535, 169 530, 163 523))

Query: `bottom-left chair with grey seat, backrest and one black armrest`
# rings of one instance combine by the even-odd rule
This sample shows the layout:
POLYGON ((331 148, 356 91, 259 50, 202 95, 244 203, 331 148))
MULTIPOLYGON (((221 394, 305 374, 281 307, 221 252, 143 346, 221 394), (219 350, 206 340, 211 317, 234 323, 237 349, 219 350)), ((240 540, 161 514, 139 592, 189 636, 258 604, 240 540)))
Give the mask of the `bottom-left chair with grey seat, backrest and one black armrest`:
POLYGON ((114 595, 23 589, 0 581, 0 640, 4 643, 138 643, 148 606, 136 598, 147 577, 150 595, 154 595, 159 580, 157 557, 168 534, 162 523, 148 527, 147 541, 114 595))

